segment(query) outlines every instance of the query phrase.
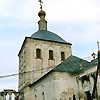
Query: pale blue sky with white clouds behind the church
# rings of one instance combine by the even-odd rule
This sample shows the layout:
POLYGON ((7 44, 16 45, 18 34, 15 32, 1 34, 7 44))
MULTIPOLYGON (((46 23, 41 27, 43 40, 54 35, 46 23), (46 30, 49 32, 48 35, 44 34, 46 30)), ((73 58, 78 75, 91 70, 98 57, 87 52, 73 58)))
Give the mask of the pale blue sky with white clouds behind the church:
MULTIPOLYGON (((48 30, 72 43, 72 54, 88 58, 100 41, 100 0, 43 0, 48 30)), ((0 0, 0 76, 18 73, 18 52, 38 30, 38 0, 0 0)), ((88 59, 86 59, 88 60, 88 59)), ((0 78, 0 91, 18 90, 18 76, 0 78)))

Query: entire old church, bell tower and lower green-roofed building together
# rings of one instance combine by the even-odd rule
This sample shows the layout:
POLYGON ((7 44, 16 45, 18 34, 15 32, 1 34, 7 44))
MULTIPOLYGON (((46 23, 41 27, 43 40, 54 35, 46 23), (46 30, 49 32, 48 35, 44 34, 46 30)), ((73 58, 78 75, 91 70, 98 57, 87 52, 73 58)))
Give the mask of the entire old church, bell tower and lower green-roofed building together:
MULTIPOLYGON (((42 7, 38 16, 38 31, 25 37, 18 54, 18 100, 92 100, 97 59, 73 56, 72 44, 48 31, 42 7)), ((99 78, 95 98, 98 91, 99 78)))

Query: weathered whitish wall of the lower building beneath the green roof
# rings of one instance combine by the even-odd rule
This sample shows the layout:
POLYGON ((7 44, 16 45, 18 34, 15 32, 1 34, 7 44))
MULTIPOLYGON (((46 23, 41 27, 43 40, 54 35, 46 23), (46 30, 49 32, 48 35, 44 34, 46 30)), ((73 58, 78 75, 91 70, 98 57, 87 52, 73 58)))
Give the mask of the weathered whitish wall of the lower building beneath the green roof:
POLYGON ((32 100, 43 100, 42 93, 45 95, 45 100, 71 100, 73 94, 76 95, 78 100, 78 86, 75 80, 76 78, 66 72, 53 72, 40 80, 31 87, 32 100))

